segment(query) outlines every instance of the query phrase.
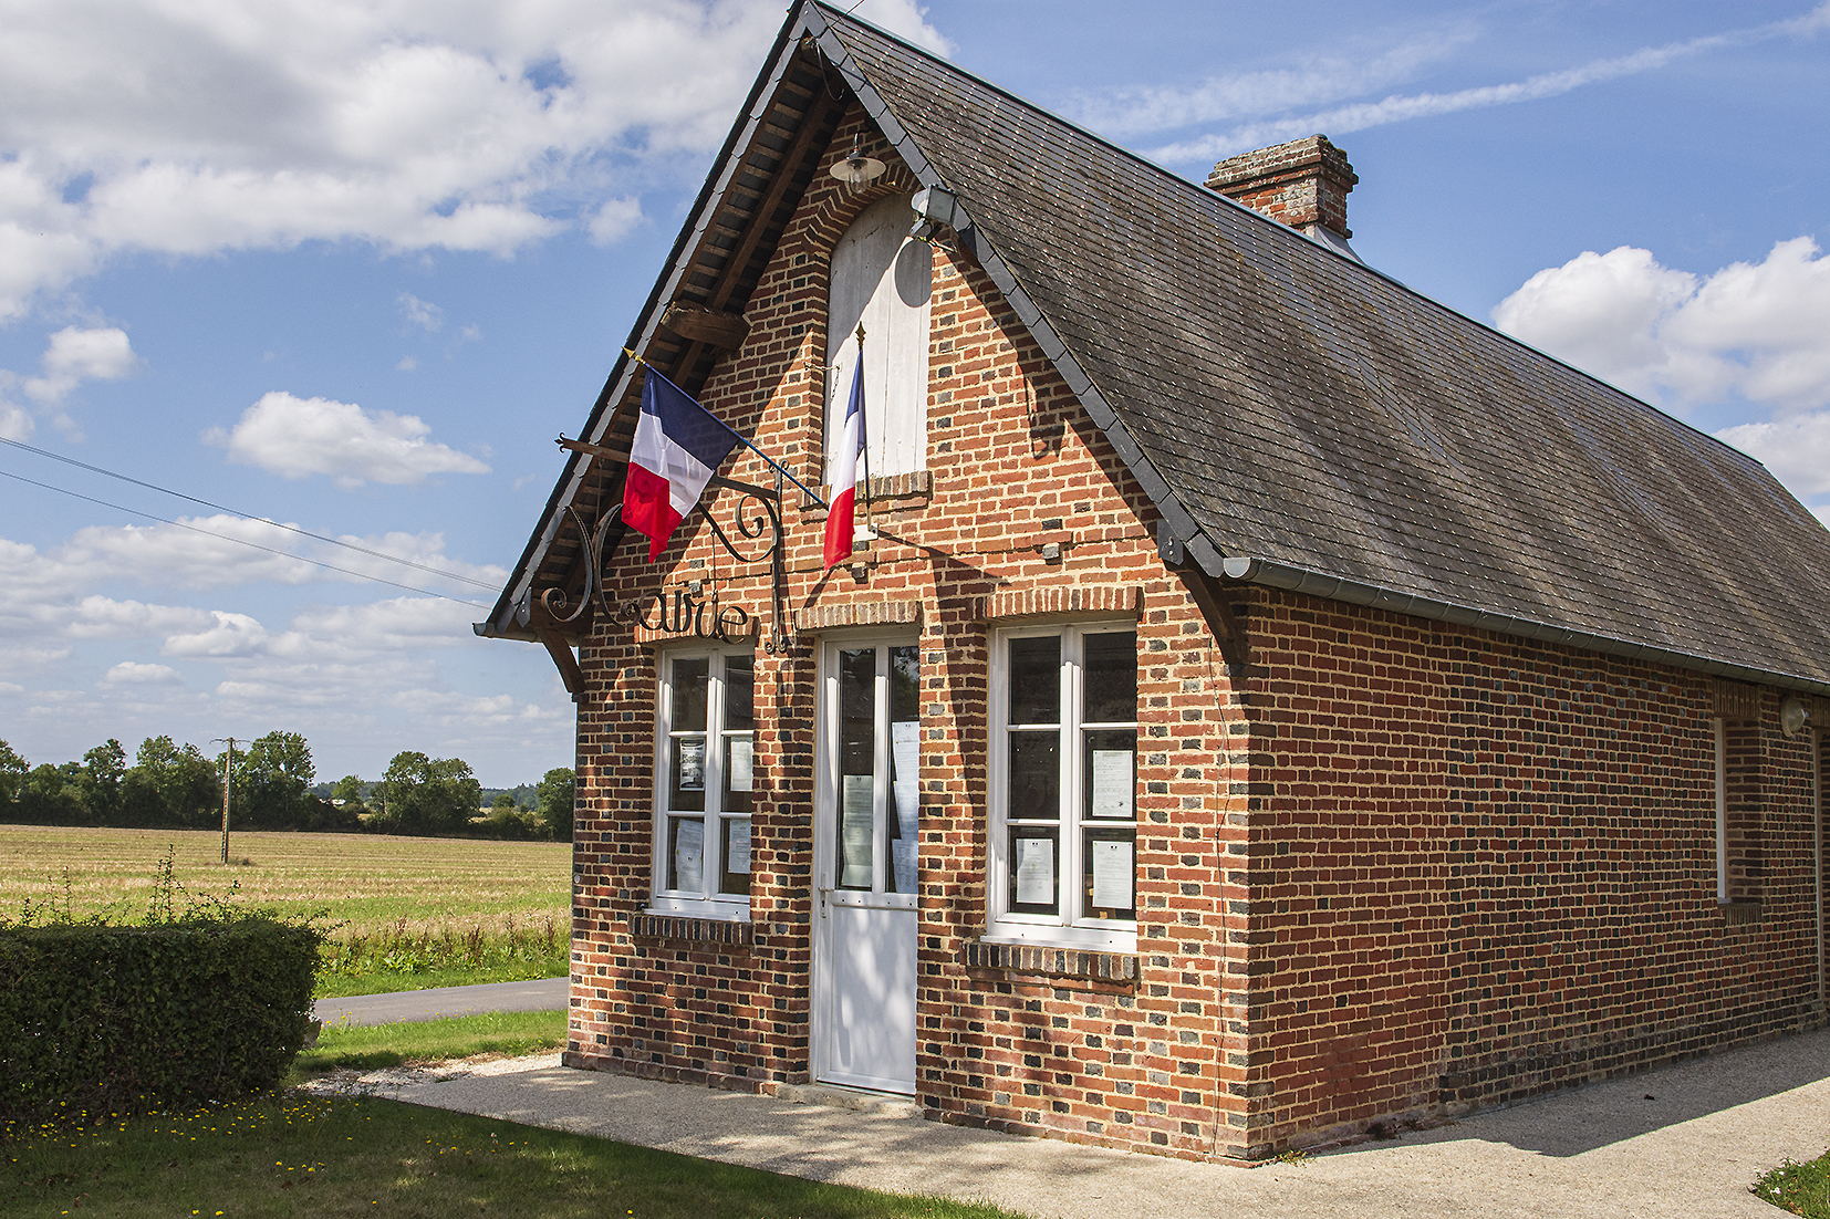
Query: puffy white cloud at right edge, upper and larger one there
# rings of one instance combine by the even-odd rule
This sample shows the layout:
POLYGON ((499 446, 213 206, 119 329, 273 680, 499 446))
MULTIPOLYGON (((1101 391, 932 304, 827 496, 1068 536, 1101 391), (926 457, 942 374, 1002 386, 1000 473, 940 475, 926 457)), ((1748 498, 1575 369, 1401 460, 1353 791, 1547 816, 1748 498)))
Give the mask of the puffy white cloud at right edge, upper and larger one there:
POLYGON ((1643 249, 1590 251, 1534 275, 1493 322, 1654 403, 1817 410, 1830 405, 1830 260, 1817 253, 1793 238, 1698 276, 1643 249))

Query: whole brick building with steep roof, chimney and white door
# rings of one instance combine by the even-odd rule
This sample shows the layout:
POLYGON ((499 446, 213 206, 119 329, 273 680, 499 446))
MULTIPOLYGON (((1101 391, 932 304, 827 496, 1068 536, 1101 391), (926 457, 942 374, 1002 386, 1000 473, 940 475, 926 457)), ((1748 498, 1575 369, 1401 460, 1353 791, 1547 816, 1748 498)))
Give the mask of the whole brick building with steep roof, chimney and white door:
POLYGON ((571 1065, 1255 1159, 1823 1021, 1830 533, 1352 183, 791 13, 630 348, 816 491, 862 324, 869 529, 739 448, 650 562, 615 362, 478 626, 578 703, 571 1065))

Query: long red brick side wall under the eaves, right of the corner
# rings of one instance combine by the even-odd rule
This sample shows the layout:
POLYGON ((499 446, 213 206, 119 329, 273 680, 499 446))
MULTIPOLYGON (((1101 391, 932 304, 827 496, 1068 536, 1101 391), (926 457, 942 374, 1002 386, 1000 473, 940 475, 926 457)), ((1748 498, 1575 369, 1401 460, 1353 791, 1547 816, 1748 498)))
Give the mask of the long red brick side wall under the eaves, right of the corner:
POLYGON ((1707 677, 1270 589, 1248 622, 1254 1153, 1823 1018, 1777 692, 1729 725, 1744 922, 1707 677))

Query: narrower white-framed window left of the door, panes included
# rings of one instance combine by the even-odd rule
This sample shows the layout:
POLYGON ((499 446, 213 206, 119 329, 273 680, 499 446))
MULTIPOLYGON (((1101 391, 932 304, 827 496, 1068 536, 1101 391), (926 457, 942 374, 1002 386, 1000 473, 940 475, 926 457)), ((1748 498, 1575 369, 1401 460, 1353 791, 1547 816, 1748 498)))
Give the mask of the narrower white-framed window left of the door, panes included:
POLYGON ((655 728, 655 908, 750 917, 756 738, 748 652, 661 657, 655 728))

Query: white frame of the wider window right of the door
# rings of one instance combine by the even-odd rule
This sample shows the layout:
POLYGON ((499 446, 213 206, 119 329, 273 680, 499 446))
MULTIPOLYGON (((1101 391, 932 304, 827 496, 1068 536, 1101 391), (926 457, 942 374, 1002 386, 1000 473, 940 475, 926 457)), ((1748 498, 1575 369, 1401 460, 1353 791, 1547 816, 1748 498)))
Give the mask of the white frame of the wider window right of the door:
MULTIPOLYGON (((1082 877, 1085 860, 1082 858, 1082 829, 1100 825, 1125 825, 1142 829, 1136 814, 1136 771, 1133 769, 1133 805, 1131 822, 1105 822, 1082 814, 1085 809, 1085 739, 1093 730, 1135 730, 1142 728, 1131 721, 1083 721, 1083 641, 1087 635, 1129 633, 1136 639, 1136 619, 1102 619, 1078 622, 1023 622, 992 630, 990 639, 990 772, 988 772, 988 844, 986 844, 986 910, 990 912, 986 935, 990 943, 1036 943, 1061 948, 1083 948, 1100 952, 1136 952, 1135 919, 1094 919, 1083 917, 1082 877), (1010 641, 1056 637, 1061 641, 1061 723, 1060 723, 1060 793, 1061 818, 1056 836, 1056 899, 1058 913, 1025 913, 1010 910, 1010 858, 1008 798, 1010 798, 1010 641)), ((1142 663, 1138 672, 1142 675, 1142 663)), ((1136 752, 1133 754, 1136 758, 1136 752)), ((1135 765, 1135 763, 1133 763, 1135 765)), ((1136 836, 1133 836, 1133 902, 1140 901, 1136 875, 1136 836)), ((1136 906, 1133 906, 1133 912, 1136 906)))

